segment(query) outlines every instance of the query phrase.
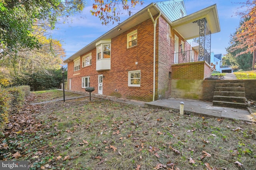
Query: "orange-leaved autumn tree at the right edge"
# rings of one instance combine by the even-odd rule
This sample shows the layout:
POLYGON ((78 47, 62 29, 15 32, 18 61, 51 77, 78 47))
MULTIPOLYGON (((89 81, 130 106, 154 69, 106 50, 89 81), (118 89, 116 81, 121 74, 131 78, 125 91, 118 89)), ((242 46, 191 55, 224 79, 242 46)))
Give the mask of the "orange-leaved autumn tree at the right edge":
POLYGON ((254 53, 252 62, 252 66, 254 66, 256 64, 256 0, 247 0, 242 3, 241 8, 246 8, 246 11, 236 13, 242 16, 242 24, 234 35, 236 45, 232 46, 230 50, 243 49, 236 56, 254 53))

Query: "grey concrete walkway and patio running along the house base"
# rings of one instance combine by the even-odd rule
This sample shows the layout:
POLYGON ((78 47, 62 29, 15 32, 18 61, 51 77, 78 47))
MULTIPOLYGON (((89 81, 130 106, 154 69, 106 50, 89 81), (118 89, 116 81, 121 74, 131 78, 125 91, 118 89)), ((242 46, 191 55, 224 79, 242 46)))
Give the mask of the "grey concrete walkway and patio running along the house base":
MULTIPOLYGON (((68 90, 67 90, 68 91, 68 90)), ((68 91, 72 92, 72 91, 68 91)), ((67 98, 65 100, 72 100, 76 98, 88 98, 89 100, 89 93, 88 92, 75 92, 77 94, 81 94, 78 97, 67 98)), ((105 100, 111 100, 115 102, 121 102, 125 104, 132 104, 140 107, 149 107, 149 108, 169 108, 174 109, 176 111, 180 110, 180 102, 184 102, 184 112, 191 113, 194 115, 202 115, 208 117, 220 117, 220 118, 228 118, 228 119, 239 119, 242 121, 249 121, 254 122, 255 119, 252 117, 250 112, 245 109, 234 109, 228 107, 217 107, 213 106, 212 102, 204 102, 201 100, 188 100, 188 99, 179 99, 179 98, 168 98, 163 100, 156 100, 154 102, 143 102, 138 100, 129 100, 124 98, 117 98, 113 96, 105 96, 99 94, 92 94, 92 100, 94 98, 101 98, 105 100)), ((36 104, 45 104, 49 102, 57 102, 63 101, 63 99, 59 100, 52 100, 47 102, 40 102, 36 104)), ((35 104, 33 104, 35 105, 35 104)))

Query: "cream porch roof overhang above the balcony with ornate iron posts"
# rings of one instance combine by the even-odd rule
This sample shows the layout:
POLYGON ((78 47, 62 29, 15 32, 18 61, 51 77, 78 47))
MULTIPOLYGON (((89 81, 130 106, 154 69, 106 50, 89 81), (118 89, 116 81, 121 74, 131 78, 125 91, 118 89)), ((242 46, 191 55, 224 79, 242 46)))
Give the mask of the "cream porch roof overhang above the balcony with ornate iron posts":
POLYGON ((184 40, 199 37, 199 26, 195 21, 203 18, 206 19, 206 35, 220 32, 220 22, 216 4, 173 21, 171 23, 172 29, 175 29, 184 40))

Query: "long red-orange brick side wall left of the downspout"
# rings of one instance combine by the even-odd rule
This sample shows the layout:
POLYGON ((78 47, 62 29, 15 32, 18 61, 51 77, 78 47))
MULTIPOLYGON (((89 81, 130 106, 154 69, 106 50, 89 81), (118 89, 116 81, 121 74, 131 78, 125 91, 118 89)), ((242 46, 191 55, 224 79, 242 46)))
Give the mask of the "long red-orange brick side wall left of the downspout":
MULTIPOLYGON (((92 51, 92 65, 82 68, 80 57, 80 70, 74 72, 73 61, 68 63, 68 83, 71 78, 71 90, 82 91, 82 77, 90 76, 90 86, 95 87, 92 93, 98 93, 98 75, 103 74, 103 94, 128 99, 152 101, 153 95, 153 37, 154 27, 152 20, 142 22, 140 25, 112 38, 111 40, 111 69, 96 71, 96 48, 92 51), (138 31, 138 44, 126 48, 127 34, 138 31), (135 62, 138 62, 136 65, 135 62), (140 87, 128 87, 128 71, 140 70, 140 87), (80 73, 79 75, 75 75, 80 73)), ((88 52, 88 53, 90 53, 88 52)), ((86 54, 88 54, 86 53, 86 54)), ((84 55, 86 55, 84 54, 84 55)), ((69 89, 69 86, 68 86, 69 89)))

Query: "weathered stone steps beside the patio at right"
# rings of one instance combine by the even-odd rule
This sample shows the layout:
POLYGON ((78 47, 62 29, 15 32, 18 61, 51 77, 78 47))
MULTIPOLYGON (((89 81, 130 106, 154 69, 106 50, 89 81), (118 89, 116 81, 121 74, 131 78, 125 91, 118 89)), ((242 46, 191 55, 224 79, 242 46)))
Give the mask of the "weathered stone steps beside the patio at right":
POLYGON ((246 109, 244 83, 216 83, 213 105, 246 109))

